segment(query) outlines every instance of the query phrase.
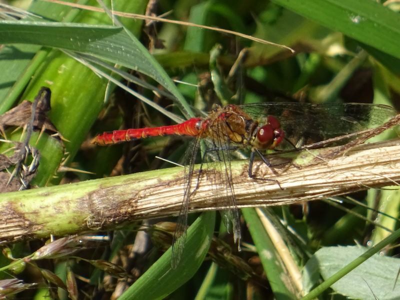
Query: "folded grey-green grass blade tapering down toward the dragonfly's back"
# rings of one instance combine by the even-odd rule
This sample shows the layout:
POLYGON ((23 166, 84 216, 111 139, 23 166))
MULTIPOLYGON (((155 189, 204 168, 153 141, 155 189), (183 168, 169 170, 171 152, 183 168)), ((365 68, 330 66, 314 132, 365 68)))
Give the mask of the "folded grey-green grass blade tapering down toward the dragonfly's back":
POLYGON ((165 86, 193 116, 176 86, 148 50, 125 28, 81 23, 0 22, 0 43, 30 43, 90 54, 142 72, 165 86))

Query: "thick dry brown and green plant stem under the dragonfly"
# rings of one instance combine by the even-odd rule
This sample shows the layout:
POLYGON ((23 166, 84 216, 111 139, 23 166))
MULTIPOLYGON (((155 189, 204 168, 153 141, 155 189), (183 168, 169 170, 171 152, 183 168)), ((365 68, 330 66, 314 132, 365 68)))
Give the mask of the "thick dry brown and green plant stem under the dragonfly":
MULTIPOLYGON (((293 163, 273 169, 256 162, 255 176, 276 179, 282 189, 274 181, 249 178, 248 160, 233 161, 237 206, 282 205, 398 184, 400 139, 362 144, 329 157, 329 153, 337 154, 336 149, 291 153, 293 163)), ((282 156, 269 158, 273 164, 287 161, 282 156)), ((212 182, 215 172, 202 170, 199 188, 190 198, 190 212, 221 208, 217 203, 223 193, 215 191, 225 184, 212 182)), ((0 194, 0 244, 109 230, 133 220, 176 215, 183 198, 183 177, 183 168, 174 167, 0 194)))

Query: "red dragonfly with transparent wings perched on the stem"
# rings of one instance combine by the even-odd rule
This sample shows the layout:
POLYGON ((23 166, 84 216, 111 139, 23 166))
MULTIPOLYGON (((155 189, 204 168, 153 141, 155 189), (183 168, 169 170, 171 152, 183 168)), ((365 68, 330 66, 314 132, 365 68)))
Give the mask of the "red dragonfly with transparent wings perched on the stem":
MULTIPOLYGON (((322 141, 340 135, 358 132, 376 127, 396 114, 395 110, 382 104, 364 103, 296 103, 269 102, 244 105, 228 104, 224 107, 216 105, 207 117, 193 117, 179 124, 132 128, 103 132, 92 139, 97 145, 111 145, 120 142, 148 138, 159 135, 184 135, 193 137, 186 151, 185 183, 183 200, 180 207, 177 226, 172 241, 172 267, 179 263, 186 238, 187 213, 191 195, 198 188, 191 188, 195 180, 194 162, 200 149, 200 141, 204 140, 207 149, 202 155, 219 162, 219 178, 224 181, 223 198, 218 207, 226 208, 222 219, 229 231, 232 227, 233 239, 240 243, 239 213, 234 196, 230 160, 235 150, 248 148, 248 176, 254 179, 275 181, 272 178, 258 178, 253 175, 252 166, 255 155, 263 163, 272 167, 264 156, 267 150, 273 150, 284 143, 290 147, 298 144, 322 141)), ((198 176, 200 176, 200 171, 198 176)))

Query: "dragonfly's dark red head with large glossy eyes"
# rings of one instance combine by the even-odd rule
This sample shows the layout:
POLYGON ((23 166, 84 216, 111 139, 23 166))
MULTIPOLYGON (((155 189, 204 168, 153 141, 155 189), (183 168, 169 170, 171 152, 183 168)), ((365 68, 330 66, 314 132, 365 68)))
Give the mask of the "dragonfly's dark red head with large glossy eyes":
POLYGON ((258 128, 253 139, 253 146, 259 150, 273 149, 282 142, 284 132, 280 122, 272 115, 268 115, 267 123, 258 128))

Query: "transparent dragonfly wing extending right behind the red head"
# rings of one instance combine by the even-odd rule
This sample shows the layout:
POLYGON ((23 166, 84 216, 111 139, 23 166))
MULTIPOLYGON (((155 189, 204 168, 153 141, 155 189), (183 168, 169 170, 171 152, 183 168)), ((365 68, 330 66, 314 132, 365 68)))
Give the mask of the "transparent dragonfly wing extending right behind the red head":
POLYGON ((241 105, 253 119, 265 122, 267 115, 280 121, 285 136, 305 144, 376 127, 396 111, 387 105, 366 103, 259 103, 241 105))

